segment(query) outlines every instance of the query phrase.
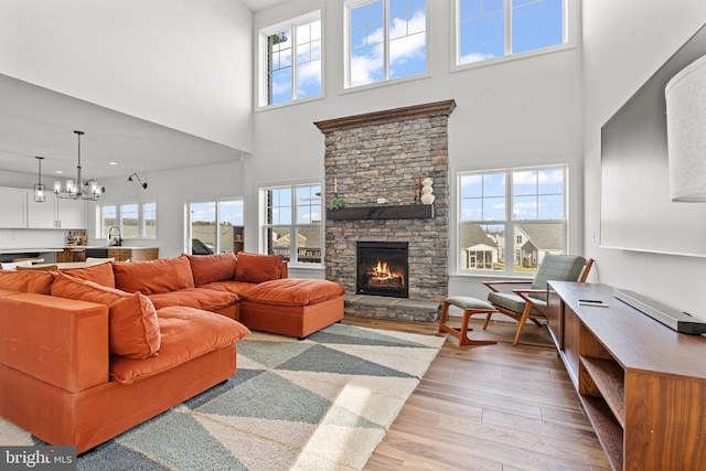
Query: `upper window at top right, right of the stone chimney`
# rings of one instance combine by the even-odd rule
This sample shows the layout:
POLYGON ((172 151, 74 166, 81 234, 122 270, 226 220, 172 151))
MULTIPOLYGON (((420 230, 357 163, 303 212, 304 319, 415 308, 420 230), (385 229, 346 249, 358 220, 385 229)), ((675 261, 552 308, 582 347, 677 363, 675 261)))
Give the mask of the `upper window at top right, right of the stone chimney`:
POLYGON ((567 42, 567 0, 457 0, 457 65, 567 42))

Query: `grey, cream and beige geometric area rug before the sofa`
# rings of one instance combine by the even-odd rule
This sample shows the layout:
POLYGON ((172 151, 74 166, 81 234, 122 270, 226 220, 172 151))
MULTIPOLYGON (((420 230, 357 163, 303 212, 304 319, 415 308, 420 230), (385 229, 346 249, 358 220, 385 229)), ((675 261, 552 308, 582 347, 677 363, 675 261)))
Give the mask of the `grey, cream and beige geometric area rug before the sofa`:
MULTIPOLYGON (((253 332, 237 374, 78 457, 78 470, 360 470, 445 338, 333 324, 253 332)), ((0 445, 43 445, 0 419, 0 445)))

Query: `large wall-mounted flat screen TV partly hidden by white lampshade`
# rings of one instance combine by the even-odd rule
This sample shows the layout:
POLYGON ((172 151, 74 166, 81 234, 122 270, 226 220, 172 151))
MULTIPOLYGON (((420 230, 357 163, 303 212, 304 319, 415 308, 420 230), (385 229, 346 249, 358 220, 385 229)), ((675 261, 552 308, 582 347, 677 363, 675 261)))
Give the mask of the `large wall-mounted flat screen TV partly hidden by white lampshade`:
POLYGON ((706 25, 602 126, 601 247, 706 257, 706 203, 670 200, 664 98, 667 82, 705 54, 706 25))

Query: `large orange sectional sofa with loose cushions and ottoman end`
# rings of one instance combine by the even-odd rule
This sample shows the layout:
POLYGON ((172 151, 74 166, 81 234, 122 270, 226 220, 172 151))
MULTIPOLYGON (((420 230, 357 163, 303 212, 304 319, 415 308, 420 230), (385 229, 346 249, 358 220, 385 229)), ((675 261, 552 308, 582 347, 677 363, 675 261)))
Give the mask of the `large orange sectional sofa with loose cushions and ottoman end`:
POLYGON ((341 287, 286 277, 254 254, 0 270, 0 416, 82 453, 233 376, 247 322, 302 338, 343 318, 341 287))

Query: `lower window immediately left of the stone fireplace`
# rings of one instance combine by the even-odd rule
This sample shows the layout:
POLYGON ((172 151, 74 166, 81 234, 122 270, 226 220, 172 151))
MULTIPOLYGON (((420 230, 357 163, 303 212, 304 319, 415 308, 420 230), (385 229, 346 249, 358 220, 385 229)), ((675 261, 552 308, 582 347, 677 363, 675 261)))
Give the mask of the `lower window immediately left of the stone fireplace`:
POLYGON ((263 238, 269 255, 293 264, 320 265, 323 249, 321 184, 261 189, 263 238))

